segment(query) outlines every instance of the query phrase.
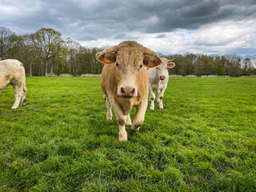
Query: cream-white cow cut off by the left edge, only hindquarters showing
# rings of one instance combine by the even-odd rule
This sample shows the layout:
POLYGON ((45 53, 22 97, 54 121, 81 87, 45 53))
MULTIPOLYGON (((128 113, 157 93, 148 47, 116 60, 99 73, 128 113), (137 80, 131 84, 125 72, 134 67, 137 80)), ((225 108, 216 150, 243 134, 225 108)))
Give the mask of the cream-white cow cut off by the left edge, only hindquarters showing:
POLYGON ((15 102, 12 110, 17 109, 20 101, 21 106, 26 105, 25 69, 21 62, 16 59, 0 61, 0 94, 2 90, 11 84, 14 88, 15 102))

